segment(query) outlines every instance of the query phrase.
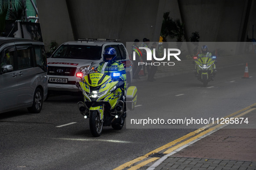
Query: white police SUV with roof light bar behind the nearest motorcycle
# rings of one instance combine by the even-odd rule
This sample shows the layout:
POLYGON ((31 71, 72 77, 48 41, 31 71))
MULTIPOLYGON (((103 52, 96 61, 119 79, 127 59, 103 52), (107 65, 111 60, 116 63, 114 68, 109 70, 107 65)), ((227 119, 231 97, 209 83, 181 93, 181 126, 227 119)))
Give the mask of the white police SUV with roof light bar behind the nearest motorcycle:
POLYGON ((75 83, 84 75, 83 70, 93 71, 103 61, 103 52, 107 47, 117 51, 117 61, 126 69, 126 84, 132 80, 132 61, 124 45, 117 40, 82 39, 60 45, 48 62, 49 93, 80 92, 75 83))

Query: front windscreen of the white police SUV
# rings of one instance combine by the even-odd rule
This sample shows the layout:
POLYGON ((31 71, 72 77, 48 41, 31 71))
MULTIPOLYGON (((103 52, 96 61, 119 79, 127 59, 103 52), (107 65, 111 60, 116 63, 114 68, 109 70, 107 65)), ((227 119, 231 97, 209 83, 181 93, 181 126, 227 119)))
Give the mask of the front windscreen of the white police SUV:
POLYGON ((101 47, 88 45, 62 45, 55 51, 52 58, 100 60, 101 47))

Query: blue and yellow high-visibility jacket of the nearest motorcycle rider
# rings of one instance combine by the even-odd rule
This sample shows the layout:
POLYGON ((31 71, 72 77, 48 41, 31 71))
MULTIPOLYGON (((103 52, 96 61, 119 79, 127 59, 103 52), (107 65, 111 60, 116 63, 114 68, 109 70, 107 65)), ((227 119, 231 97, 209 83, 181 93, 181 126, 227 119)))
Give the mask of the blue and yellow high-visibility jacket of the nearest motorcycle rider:
POLYGON ((115 61, 113 64, 109 62, 101 62, 97 68, 97 71, 99 73, 107 74, 108 76, 111 76, 113 72, 119 72, 119 79, 126 82, 126 71, 124 69, 123 63, 118 61, 115 61))

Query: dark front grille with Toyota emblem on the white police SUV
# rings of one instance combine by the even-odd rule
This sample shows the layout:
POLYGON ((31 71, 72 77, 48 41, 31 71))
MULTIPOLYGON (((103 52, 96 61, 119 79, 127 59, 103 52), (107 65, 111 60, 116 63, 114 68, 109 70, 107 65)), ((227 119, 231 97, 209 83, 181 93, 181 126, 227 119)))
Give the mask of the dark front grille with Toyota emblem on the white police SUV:
POLYGON ((54 67, 48 66, 48 75, 54 76, 74 76, 76 67, 54 67))

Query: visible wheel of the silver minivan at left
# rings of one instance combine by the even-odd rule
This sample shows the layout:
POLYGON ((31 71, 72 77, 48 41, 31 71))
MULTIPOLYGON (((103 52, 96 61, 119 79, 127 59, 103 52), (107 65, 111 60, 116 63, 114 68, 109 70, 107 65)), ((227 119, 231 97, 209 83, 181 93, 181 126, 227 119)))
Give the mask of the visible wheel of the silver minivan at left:
POLYGON ((42 103, 43 103, 42 90, 40 88, 36 88, 34 98, 33 98, 33 105, 32 107, 28 107, 29 113, 39 113, 42 109, 42 103))

